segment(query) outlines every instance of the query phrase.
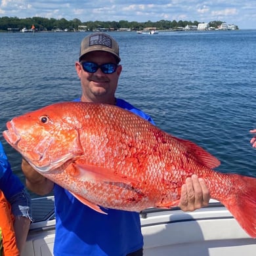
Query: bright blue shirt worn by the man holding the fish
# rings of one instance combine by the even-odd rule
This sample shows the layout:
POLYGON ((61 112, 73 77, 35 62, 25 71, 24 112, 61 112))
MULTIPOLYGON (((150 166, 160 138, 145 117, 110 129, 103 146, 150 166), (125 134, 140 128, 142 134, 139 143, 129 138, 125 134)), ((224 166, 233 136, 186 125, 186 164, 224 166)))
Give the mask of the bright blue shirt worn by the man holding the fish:
MULTIPOLYGON (((154 123, 125 100, 117 99, 116 105, 154 123)), ((104 209, 108 215, 98 213, 57 184, 54 196, 55 256, 123 256, 143 247, 139 213, 116 209, 104 209)))

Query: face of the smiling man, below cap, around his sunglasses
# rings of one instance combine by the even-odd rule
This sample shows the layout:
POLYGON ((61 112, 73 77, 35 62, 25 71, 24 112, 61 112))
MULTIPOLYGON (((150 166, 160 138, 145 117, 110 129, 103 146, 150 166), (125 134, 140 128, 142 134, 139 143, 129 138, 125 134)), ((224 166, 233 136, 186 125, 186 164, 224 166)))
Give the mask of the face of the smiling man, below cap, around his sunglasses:
MULTIPOLYGON (((116 58, 111 53, 93 51, 85 54, 81 62, 94 62, 98 65, 106 63, 116 64, 116 58)), ((104 74, 100 68, 95 73, 86 72, 79 62, 75 63, 75 68, 81 80, 83 91, 81 101, 114 104, 117 83, 121 74, 120 65, 117 66, 116 72, 112 74, 104 74)))

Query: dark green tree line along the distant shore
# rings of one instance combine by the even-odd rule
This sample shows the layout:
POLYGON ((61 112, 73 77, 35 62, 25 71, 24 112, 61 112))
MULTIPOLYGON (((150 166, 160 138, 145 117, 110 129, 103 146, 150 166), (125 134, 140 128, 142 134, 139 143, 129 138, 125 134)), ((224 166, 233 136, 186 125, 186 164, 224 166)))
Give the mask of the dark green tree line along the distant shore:
MULTIPOLYGON (((198 21, 182 21, 176 20, 160 20, 158 22, 152 22, 148 20, 147 22, 128 22, 127 20, 116 21, 88 21, 81 22, 81 20, 74 18, 73 20, 66 20, 61 18, 57 20, 55 18, 42 18, 42 17, 32 17, 32 18, 17 18, 17 17, 0 17, 0 31, 9 31, 9 30, 21 30, 22 28, 32 28, 35 26, 37 31, 51 31, 56 28, 60 30, 68 29, 74 31, 78 29, 78 26, 87 26, 88 31, 94 31, 99 28, 106 28, 111 30, 120 30, 121 28, 127 28, 129 30, 143 30, 144 28, 156 28, 157 30, 170 30, 175 28, 184 28, 187 25, 198 26, 198 21)), ((209 22, 209 26, 217 28, 224 22, 221 21, 212 21, 209 22)))

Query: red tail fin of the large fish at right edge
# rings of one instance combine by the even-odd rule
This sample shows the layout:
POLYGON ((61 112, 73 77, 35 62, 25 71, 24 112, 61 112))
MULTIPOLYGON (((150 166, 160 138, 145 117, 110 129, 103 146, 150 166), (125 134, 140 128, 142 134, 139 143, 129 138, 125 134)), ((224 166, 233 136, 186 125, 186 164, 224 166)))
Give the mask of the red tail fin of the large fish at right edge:
POLYGON ((226 198, 226 202, 223 200, 223 204, 247 234, 256 238, 256 179, 242 175, 234 177, 239 185, 234 185, 235 194, 226 198))

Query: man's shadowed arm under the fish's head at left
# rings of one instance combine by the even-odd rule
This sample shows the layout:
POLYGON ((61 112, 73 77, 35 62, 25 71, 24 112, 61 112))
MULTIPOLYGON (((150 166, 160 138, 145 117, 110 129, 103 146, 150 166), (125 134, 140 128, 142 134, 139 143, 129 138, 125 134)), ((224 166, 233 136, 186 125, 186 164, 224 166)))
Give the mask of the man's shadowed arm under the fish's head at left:
POLYGON ((22 159, 22 171, 26 177, 26 186, 35 194, 45 196, 53 190, 54 183, 37 173, 28 161, 22 159))

